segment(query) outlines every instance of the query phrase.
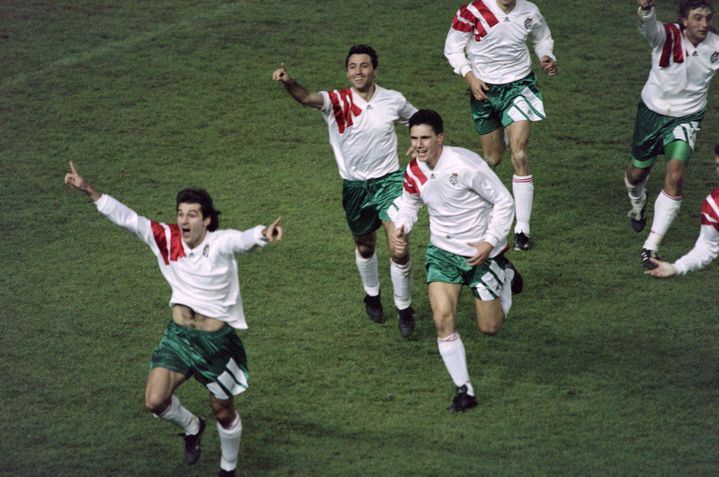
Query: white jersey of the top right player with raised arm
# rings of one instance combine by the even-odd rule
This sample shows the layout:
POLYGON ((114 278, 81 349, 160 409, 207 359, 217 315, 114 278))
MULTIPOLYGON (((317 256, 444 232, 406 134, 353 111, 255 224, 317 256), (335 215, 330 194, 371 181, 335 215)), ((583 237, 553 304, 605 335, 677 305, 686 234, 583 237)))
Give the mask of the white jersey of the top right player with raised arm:
POLYGON ((639 12, 639 31, 652 47, 652 68, 642 101, 663 116, 681 117, 703 110, 709 83, 719 70, 719 36, 708 32, 696 47, 679 25, 657 21, 652 8, 639 12))

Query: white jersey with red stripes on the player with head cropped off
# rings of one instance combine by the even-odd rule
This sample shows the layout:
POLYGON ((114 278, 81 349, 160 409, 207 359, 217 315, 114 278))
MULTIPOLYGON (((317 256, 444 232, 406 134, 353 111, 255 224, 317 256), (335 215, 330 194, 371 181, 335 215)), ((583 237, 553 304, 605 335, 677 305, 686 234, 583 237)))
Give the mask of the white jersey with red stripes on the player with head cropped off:
POLYGON ((536 5, 517 0, 512 11, 504 13, 497 0, 476 0, 457 10, 444 56, 462 77, 471 70, 485 83, 511 83, 532 72, 527 39, 538 58, 555 59, 552 34, 536 5))

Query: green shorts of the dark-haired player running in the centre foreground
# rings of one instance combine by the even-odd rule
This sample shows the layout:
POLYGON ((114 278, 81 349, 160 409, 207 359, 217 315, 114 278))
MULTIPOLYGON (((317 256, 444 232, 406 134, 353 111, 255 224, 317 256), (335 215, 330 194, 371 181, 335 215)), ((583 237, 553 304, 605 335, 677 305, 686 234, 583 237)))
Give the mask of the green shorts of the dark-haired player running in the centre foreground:
POLYGON ((467 285, 478 300, 492 301, 499 298, 502 293, 507 263, 504 255, 499 255, 472 267, 467 263, 467 257, 455 255, 429 244, 425 252, 424 266, 427 270, 427 283, 467 285))

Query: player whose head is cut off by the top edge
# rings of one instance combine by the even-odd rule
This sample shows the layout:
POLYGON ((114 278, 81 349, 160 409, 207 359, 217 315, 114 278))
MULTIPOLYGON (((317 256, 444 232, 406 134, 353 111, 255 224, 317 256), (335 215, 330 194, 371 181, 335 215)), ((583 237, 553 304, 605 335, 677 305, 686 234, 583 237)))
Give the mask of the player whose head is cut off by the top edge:
POLYGON ((476 0, 463 5, 444 43, 444 56, 469 84, 472 120, 484 159, 490 166, 498 165, 509 144, 517 218, 513 246, 519 251, 532 246, 529 219, 534 177, 527 155, 530 124, 545 117, 528 38, 542 69, 557 74, 549 27, 536 5, 524 0, 476 0))

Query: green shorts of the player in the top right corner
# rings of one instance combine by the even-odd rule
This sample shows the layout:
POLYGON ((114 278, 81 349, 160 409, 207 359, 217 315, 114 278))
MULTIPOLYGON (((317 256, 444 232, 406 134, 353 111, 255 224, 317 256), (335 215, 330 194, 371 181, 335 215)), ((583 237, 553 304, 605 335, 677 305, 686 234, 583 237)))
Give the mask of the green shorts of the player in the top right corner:
POLYGON ((639 169, 651 167, 662 153, 667 159, 676 159, 687 164, 694 151, 702 119, 704 110, 673 118, 655 113, 640 100, 634 121, 632 166, 639 169))

